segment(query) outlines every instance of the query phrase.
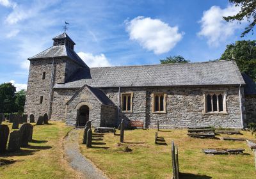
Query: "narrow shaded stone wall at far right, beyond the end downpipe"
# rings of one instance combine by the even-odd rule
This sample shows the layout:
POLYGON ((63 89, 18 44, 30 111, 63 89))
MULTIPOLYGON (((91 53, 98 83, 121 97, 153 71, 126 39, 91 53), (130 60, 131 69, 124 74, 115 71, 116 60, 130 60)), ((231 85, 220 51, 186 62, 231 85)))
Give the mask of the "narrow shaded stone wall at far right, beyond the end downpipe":
POLYGON ((246 122, 256 123, 256 95, 245 96, 246 122))

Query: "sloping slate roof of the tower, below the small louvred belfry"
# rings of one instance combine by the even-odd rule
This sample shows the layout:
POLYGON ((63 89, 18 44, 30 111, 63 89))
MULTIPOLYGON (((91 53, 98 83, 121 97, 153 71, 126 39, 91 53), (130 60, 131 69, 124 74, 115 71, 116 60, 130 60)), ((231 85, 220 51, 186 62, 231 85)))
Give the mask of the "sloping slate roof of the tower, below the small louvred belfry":
POLYGON ((81 59, 75 51, 72 49, 66 47, 66 45, 58 45, 58 46, 52 46, 49 49, 46 49, 43 52, 40 52, 39 54, 36 54, 35 56, 28 58, 31 59, 44 59, 44 58, 57 58, 57 57, 68 57, 75 61, 76 63, 79 63, 81 66, 88 67, 83 59, 81 59))

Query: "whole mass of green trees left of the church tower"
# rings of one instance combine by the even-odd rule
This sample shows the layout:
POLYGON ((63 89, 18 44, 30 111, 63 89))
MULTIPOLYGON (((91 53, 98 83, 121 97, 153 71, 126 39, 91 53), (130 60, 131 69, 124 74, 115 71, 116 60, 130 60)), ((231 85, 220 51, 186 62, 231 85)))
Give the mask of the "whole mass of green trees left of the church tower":
POLYGON ((23 113, 26 91, 24 89, 16 92, 12 83, 0 84, 0 113, 23 113))

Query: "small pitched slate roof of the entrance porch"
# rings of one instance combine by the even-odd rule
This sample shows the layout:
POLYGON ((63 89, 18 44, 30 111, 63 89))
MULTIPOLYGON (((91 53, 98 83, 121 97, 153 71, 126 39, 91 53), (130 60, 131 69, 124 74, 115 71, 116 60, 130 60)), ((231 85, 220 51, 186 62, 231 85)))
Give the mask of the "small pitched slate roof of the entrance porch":
POLYGON ((100 89, 97 89, 97 88, 92 88, 91 86, 88 86, 86 84, 84 86, 82 86, 79 89, 79 91, 77 91, 76 94, 72 98, 70 98, 70 100, 68 100, 67 104, 70 101, 72 101, 80 93, 80 91, 82 91, 82 89, 84 89, 84 88, 87 88, 88 91, 90 91, 92 93, 92 95, 94 95, 94 97, 96 97, 101 104, 115 106, 115 104, 106 96, 106 94, 103 91, 101 91, 100 89))

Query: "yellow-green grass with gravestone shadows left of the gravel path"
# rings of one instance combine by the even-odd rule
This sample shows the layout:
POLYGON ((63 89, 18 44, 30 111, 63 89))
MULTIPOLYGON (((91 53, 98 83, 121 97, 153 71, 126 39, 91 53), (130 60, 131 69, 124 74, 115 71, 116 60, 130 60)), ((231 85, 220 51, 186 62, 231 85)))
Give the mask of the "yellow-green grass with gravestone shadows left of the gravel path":
MULTIPOLYGON (((8 127, 12 128, 10 123, 8 127)), ((0 160, 15 160, 0 166, 0 178, 77 178, 76 172, 63 159, 63 137, 72 127, 65 123, 34 126, 33 142, 19 152, 0 155, 0 160)))

